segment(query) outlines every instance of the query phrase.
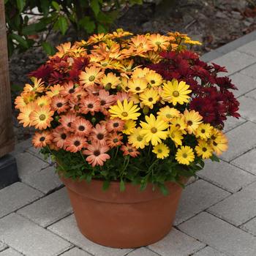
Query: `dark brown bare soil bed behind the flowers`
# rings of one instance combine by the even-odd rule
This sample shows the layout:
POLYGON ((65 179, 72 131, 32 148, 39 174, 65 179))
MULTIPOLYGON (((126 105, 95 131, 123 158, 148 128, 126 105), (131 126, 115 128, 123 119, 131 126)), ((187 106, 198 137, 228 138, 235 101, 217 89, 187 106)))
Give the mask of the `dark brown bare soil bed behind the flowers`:
MULTIPOLYGON (((147 0, 143 5, 123 11, 113 29, 123 28, 133 33, 180 31, 192 39, 203 42, 197 52, 206 53, 225 45, 256 29, 255 0, 147 0), (159 4, 156 4, 160 2, 159 4)), ((70 35, 53 35, 53 43, 72 40, 70 35)), ((15 53, 10 59, 10 81, 23 86, 26 74, 37 69, 46 60, 41 48, 31 48, 26 53, 15 53)), ((12 99, 17 91, 12 91, 12 99)), ((15 119, 17 141, 30 137, 31 129, 23 129, 15 119)))

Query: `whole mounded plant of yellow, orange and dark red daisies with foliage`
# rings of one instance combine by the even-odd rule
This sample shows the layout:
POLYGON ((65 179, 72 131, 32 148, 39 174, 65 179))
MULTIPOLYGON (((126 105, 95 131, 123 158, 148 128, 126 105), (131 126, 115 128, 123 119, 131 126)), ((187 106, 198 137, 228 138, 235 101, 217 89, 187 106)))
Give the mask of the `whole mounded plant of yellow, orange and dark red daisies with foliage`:
POLYGON ((195 176, 204 159, 227 150, 222 129, 238 118, 236 89, 225 67, 200 61, 176 33, 135 35, 122 29, 59 45, 31 72, 15 99, 18 119, 33 126, 36 148, 75 179, 152 183, 195 176))

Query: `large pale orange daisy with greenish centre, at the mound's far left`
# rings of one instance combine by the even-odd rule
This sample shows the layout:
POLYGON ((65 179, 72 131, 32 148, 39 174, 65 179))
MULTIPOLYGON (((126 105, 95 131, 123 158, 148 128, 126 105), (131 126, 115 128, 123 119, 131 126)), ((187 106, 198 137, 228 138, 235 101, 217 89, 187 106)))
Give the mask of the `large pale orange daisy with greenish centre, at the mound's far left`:
POLYGON ((53 121, 54 111, 50 110, 48 106, 37 106, 30 114, 31 125, 34 125, 36 129, 46 129, 50 127, 50 122, 53 121))

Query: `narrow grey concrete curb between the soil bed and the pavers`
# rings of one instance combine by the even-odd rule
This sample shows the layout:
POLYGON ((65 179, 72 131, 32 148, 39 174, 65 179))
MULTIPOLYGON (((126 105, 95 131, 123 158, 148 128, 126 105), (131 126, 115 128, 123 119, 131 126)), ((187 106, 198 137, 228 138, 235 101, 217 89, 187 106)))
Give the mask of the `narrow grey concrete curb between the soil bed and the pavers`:
POLYGON ((254 40, 256 40, 256 31, 246 34, 243 37, 239 37, 238 39, 229 42, 226 45, 223 45, 215 50, 211 50, 210 52, 201 56, 200 59, 206 62, 212 61, 213 59, 217 59, 226 53, 230 53, 230 51, 236 50, 242 45, 246 45, 247 43, 252 42, 254 40))

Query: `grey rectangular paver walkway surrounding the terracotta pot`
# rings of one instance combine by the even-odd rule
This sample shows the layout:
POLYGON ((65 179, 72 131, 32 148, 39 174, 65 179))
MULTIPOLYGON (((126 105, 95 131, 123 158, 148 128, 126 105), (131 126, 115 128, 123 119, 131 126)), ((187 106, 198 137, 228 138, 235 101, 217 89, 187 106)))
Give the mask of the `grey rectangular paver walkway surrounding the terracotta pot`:
POLYGON ((0 256, 255 256, 256 40, 220 53, 214 62, 238 86, 242 118, 228 119, 229 151, 189 182, 168 236, 140 249, 110 249, 84 238, 53 166, 27 140, 13 152, 20 182, 0 190, 0 256))

